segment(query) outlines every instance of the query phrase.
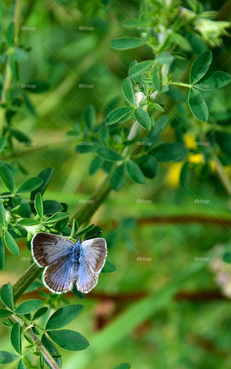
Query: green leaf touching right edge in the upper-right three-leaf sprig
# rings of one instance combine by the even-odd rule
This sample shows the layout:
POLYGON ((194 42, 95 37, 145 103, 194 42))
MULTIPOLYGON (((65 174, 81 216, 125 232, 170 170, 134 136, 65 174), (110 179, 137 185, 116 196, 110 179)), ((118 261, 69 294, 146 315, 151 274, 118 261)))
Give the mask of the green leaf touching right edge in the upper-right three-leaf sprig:
POLYGON ((195 87, 202 90, 216 90, 228 85, 231 81, 231 75, 226 72, 211 72, 207 73, 195 87))

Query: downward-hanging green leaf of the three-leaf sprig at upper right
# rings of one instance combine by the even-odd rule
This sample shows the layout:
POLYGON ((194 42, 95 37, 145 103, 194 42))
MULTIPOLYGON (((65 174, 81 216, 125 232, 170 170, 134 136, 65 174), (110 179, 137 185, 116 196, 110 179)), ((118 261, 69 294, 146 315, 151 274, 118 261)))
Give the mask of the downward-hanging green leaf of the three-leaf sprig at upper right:
POLYGON ((195 89, 190 89, 188 94, 188 104, 191 112, 195 117, 203 122, 208 120, 208 107, 200 92, 195 89))

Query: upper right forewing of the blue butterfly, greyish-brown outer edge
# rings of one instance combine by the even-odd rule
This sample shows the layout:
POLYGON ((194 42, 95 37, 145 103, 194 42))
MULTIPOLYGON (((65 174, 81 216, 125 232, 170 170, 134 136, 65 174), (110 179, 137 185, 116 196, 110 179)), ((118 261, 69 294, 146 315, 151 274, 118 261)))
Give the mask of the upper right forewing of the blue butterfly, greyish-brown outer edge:
POLYGON ((104 238, 93 238, 82 242, 82 257, 94 272, 101 272, 106 256, 107 244, 104 238))

